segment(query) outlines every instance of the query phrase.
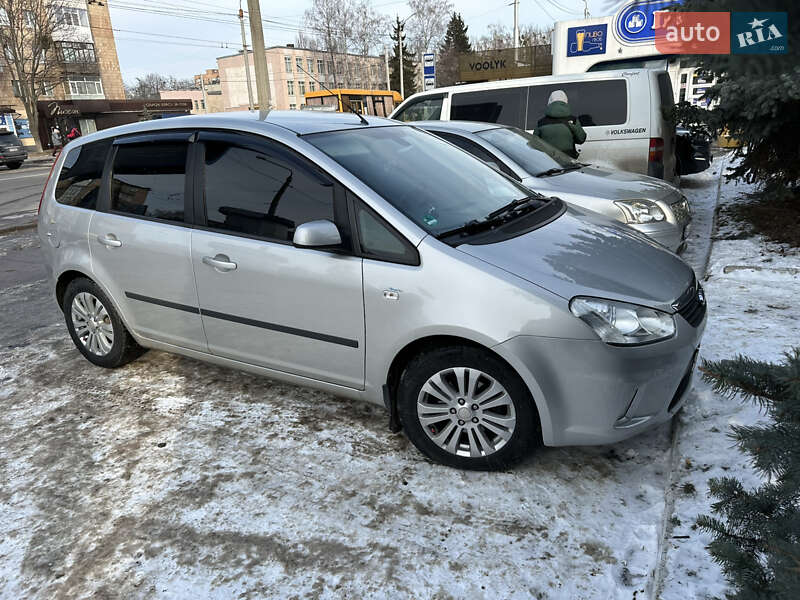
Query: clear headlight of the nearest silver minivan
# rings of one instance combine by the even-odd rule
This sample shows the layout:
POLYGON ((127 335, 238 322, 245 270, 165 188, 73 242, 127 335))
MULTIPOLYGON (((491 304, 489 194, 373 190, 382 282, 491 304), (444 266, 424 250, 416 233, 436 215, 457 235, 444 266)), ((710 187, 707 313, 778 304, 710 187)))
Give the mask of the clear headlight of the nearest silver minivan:
POLYGON ((644 344, 675 334, 672 315, 644 306, 578 296, 569 309, 608 344, 644 344))

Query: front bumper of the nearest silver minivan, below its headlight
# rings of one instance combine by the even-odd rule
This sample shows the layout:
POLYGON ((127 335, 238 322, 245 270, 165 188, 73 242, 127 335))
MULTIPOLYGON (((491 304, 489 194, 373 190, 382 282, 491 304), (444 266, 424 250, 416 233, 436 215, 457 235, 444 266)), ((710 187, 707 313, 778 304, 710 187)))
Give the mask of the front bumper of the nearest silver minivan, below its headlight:
POLYGON ((501 344, 539 387, 545 444, 614 443, 672 418, 691 388, 705 317, 696 328, 675 322, 671 339, 642 346, 534 336, 501 344))

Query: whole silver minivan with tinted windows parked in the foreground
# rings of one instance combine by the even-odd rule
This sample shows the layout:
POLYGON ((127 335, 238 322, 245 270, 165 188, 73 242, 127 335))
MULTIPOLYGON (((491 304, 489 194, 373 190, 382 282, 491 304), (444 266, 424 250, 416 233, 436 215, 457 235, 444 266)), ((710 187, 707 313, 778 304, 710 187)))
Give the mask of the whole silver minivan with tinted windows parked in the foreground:
POLYGON ((59 157, 38 226, 92 363, 157 348, 383 404, 461 468, 671 418, 705 325, 668 250, 386 119, 101 131, 59 157))

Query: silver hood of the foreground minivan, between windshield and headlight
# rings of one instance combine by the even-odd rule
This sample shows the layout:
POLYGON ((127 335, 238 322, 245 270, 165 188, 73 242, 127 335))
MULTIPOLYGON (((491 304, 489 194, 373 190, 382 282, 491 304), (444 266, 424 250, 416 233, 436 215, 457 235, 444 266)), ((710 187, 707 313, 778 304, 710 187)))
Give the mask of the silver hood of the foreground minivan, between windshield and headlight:
POLYGON ((666 248, 574 207, 530 233, 458 249, 567 300, 596 296, 673 313, 694 280, 691 267, 666 248))

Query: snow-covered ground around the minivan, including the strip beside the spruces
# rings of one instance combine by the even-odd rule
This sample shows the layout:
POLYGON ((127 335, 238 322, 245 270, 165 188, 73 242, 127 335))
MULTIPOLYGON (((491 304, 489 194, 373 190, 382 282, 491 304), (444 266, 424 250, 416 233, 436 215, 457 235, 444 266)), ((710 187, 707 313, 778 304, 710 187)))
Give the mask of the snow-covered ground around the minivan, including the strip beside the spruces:
MULTIPOLYGON (((719 166, 685 178, 685 258, 699 273, 719 166)), ((790 311, 767 306, 786 304, 797 279, 724 273, 778 265, 756 262, 760 249, 715 244, 704 356, 776 358, 791 328, 797 338, 790 311), (776 281, 782 290, 766 290, 776 281)), ((55 318, 37 329, 15 318, 42 306, 57 317, 48 293, 35 283, 0 295, 0 598, 721 591, 690 525, 707 510, 708 477, 746 472, 725 428, 753 415, 701 382, 674 451, 667 424, 613 446, 543 449, 509 472, 461 472, 389 434, 369 405, 160 352, 95 368, 55 318), (694 496, 674 493, 686 482, 694 496)))

